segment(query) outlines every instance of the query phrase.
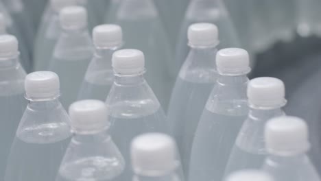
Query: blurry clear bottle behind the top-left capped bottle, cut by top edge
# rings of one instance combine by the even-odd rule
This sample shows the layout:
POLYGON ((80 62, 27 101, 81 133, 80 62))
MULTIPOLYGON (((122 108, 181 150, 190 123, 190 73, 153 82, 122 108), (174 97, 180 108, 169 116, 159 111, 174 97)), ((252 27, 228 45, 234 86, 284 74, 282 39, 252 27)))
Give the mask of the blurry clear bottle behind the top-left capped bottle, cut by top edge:
POLYGON ((54 47, 60 36, 59 12, 75 5, 76 0, 50 0, 41 19, 34 45, 34 69, 47 70, 54 47))

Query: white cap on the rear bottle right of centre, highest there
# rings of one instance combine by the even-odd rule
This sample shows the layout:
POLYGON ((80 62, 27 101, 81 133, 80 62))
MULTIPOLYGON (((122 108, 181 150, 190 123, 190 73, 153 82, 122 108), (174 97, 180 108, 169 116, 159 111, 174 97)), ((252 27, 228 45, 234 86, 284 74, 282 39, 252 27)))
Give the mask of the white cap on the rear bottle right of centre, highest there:
POLYGON ((191 47, 214 47, 219 44, 217 26, 211 23, 195 23, 190 25, 188 38, 191 47))

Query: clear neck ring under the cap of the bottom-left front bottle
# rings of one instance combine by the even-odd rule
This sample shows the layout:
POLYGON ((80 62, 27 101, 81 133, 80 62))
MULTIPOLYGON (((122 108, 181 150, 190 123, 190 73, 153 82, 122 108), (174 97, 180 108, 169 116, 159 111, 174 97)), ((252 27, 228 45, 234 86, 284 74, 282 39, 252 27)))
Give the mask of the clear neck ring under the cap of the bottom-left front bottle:
POLYGON ((106 130, 95 132, 92 134, 82 134, 75 132, 73 136, 73 141, 77 141, 79 143, 99 143, 106 141, 106 139, 110 138, 108 132, 106 130))

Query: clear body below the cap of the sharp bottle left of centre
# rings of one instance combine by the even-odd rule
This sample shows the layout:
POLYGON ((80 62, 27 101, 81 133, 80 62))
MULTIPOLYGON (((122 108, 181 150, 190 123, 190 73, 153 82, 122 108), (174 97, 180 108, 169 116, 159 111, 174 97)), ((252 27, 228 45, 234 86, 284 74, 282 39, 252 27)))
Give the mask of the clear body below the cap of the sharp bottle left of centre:
POLYGON ((119 179, 131 180, 132 138, 147 132, 168 133, 165 113, 141 74, 116 75, 106 105, 111 122, 110 134, 126 162, 119 179))

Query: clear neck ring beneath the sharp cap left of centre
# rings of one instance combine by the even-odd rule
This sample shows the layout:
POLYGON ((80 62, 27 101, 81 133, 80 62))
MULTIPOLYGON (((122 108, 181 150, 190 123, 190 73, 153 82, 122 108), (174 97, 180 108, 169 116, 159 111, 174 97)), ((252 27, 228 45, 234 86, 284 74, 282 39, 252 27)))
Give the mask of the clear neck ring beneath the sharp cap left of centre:
POLYGON ((145 82, 144 73, 137 73, 132 75, 119 75, 115 74, 115 84, 124 85, 124 86, 132 86, 136 84, 143 84, 145 82))

